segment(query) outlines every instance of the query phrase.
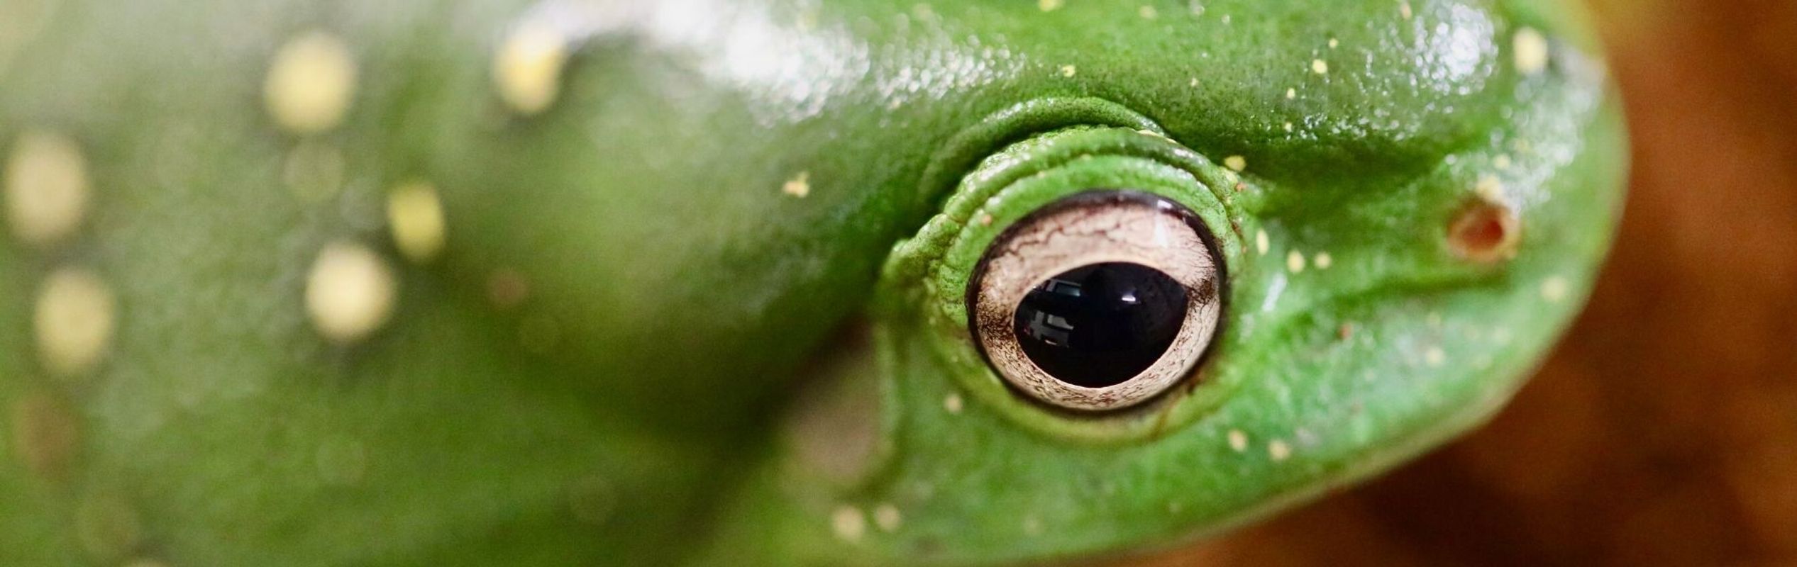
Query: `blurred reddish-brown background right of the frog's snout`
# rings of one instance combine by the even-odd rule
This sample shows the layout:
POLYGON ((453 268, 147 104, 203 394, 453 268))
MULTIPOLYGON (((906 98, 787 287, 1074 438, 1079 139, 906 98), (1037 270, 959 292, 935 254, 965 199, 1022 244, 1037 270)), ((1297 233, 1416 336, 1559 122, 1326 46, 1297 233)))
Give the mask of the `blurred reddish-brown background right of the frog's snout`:
POLYGON ((1797 565, 1797 0, 1598 0, 1633 181, 1490 427, 1132 565, 1797 565))

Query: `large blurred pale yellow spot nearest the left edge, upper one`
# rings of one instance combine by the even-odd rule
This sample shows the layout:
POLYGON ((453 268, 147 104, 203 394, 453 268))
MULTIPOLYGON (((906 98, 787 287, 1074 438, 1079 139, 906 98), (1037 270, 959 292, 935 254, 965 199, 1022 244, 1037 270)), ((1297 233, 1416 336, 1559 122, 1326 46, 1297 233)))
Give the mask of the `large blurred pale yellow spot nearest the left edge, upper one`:
POLYGON ((27 244, 68 239, 88 212, 88 163, 75 140, 27 131, 5 165, 5 221, 27 244))

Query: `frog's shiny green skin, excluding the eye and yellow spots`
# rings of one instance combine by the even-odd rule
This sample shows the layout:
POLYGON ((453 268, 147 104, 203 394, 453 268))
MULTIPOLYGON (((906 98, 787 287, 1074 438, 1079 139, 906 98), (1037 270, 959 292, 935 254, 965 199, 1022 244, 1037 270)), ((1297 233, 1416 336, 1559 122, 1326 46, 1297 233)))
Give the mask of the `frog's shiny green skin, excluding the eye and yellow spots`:
POLYGON ((1551 2, 589 2, 532 117, 489 75, 525 0, 5 4, 40 20, 0 25, 0 147, 70 135, 93 203, 68 244, 0 246, 0 411, 18 431, 49 395, 79 431, 52 474, 0 438, 0 565, 1172 545, 1488 418, 1578 310, 1621 203, 1617 104, 1551 2), (1538 74, 1513 63, 1524 27, 1551 39, 1538 74), (309 29, 359 65, 311 138, 347 156, 329 201, 295 196, 300 138, 261 104, 309 29), (1486 176, 1520 219, 1509 260, 1447 237, 1486 176), (433 264, 381 224, 408 179, 447 210, 433 264), (1166 397, 1049 411, 979 357, 965 285, 1010 222, 1100 187, 1211 226, 1222 330, 1166 397), (349 346, 302 300, 340 239, 401 280, 349 346), (31 298, 68 264, 111 287, 117 332, 54 379, 31 298), (500 271, 523 305, 489 298, 500 271))

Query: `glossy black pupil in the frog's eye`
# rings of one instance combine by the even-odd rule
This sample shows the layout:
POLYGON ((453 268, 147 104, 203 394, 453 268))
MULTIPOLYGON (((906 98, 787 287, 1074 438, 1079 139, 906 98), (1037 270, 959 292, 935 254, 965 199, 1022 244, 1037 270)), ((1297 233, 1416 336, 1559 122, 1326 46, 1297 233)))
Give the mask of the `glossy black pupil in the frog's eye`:
POLYGON ((1093 264, 1048 278, 1017 305, 1017 343, 1051 377, 1123 384, 1161 359, 1186 321, 1186 287, 1141 264, 1093 264))

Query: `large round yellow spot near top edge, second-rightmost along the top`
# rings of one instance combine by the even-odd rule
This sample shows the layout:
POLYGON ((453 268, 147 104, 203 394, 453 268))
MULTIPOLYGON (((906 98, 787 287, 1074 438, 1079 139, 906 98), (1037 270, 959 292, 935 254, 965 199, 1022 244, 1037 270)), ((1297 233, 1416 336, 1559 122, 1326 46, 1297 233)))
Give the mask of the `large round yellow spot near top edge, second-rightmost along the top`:
POLYGON ((356 95, 356 57, 327 32, 305 32, 282 45, 268 70, 268 113, 295 135, 316 135, 343 122, 356 95))

